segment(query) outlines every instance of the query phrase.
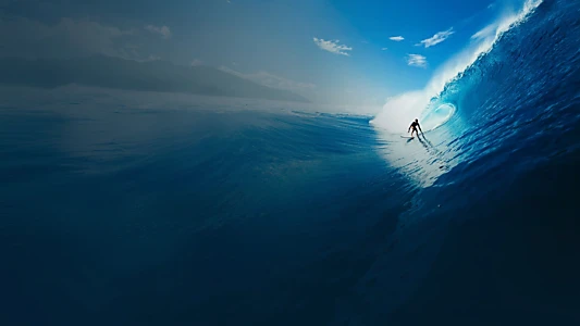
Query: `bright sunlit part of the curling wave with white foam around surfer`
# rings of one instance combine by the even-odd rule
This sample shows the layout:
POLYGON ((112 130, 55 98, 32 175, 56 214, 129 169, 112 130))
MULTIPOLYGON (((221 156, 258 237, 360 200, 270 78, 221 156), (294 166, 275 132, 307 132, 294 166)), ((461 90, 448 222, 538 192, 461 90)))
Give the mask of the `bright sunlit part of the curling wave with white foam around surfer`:
POLYGON ((562 128, 565 109, 558 104, 576 97, 570 85, 577 83, 579 62, 578 7, 577 1, 527 1, 473 35, 423 90, 390 100, 371 121, 390 143, 385 159, 430 186, 489 150, 562 128), (422 145, 436 159, 395 136, 416 117, 427 131, 422 145))

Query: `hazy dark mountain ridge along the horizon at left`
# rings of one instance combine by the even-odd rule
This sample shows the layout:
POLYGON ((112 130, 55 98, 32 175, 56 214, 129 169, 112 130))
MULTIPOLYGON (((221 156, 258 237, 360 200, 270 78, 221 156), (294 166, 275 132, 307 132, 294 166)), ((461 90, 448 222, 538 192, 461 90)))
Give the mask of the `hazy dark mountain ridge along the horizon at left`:
POLYGON ((164 61, 138 62, 104 55, 0 59, 0 84, 41 88, 76 84, 124 90, 310 102, 291 91, 258 85, 210 66, 181 66, 164 61))

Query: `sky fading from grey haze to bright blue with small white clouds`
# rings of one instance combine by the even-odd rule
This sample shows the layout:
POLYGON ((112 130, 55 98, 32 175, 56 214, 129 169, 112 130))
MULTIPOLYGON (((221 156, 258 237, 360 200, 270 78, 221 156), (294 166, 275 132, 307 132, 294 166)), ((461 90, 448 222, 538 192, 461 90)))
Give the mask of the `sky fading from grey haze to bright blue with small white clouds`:
POLYGON ((424 87, 518 0, 0 0, 0 57, 210 65, 314 102, 424 87))

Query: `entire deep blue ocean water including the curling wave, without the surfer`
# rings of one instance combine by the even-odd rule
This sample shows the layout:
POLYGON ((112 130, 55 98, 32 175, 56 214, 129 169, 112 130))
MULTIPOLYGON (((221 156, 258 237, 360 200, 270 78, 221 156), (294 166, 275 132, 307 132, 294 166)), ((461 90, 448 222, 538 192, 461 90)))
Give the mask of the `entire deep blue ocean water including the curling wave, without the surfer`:
POLYGON ((580 325, 580 2, 502 28, 372 114, 3 86, 0 325, 580 325))

